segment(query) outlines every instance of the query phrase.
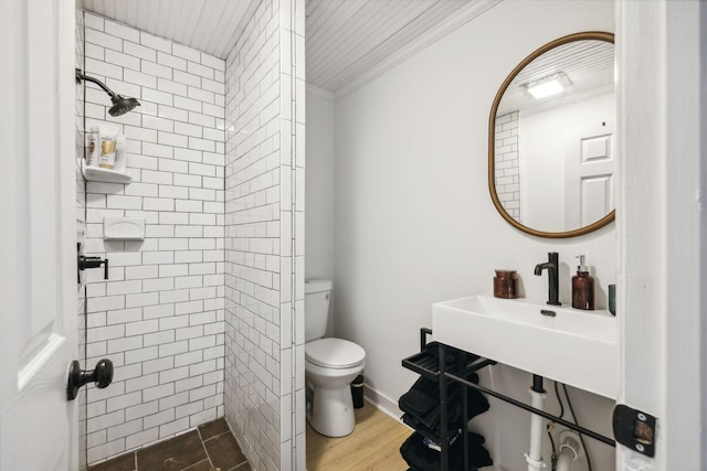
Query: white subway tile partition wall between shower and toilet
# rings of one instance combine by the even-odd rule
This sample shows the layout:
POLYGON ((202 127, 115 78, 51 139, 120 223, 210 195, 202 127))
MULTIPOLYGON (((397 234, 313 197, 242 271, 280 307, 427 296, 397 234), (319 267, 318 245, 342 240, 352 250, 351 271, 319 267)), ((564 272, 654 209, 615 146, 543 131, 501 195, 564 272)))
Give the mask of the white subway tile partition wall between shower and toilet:
POLYGON ((304 0, 226 60, 225 416, 254 469, 305 470, 304 0))

